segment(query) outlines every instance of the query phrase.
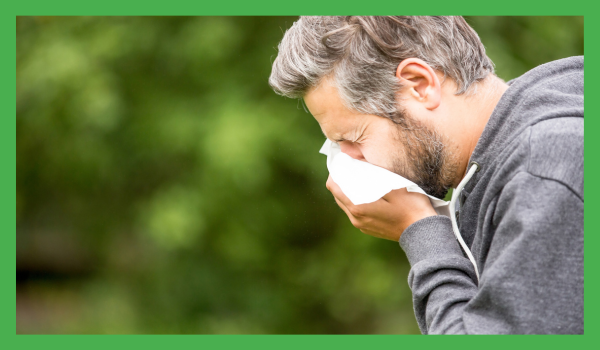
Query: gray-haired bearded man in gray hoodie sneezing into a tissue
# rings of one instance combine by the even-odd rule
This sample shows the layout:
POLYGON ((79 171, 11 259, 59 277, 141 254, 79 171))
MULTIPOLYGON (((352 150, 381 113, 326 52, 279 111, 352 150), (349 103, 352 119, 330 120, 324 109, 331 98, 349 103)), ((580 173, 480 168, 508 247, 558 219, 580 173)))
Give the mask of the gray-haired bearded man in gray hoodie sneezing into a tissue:
POLYGON ((269 83, 351 157, 438 198, 464 186, 461 249, 426 196, 353 205, 327 180, 399 241, 424 334, 583 333, 583 57, 505 83, 462 17, 302 17, 269 83))

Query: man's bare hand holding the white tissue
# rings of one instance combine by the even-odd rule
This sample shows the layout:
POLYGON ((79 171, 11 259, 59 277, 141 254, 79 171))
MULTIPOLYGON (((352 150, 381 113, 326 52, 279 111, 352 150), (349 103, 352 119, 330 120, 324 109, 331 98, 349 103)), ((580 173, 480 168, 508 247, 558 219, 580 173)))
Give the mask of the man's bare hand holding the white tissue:
POLYGON ((397 242, 408 226, 437 215, 427 196, 408 192, 405 188, 391 191, 373 203, 354 205, 331 176, 327 179, 326 187, 348 215, 352 225, 373 237, 397 242))

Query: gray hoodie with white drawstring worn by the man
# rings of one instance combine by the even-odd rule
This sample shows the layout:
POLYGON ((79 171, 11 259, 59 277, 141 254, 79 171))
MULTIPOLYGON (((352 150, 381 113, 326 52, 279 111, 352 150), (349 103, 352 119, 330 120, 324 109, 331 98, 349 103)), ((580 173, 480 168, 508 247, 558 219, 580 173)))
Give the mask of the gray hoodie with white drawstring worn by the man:
POLYGON ((583 333, 583 57, 509 85, 459 198, 479 283, 448 217, 400 237, 424 334, 583 333))

